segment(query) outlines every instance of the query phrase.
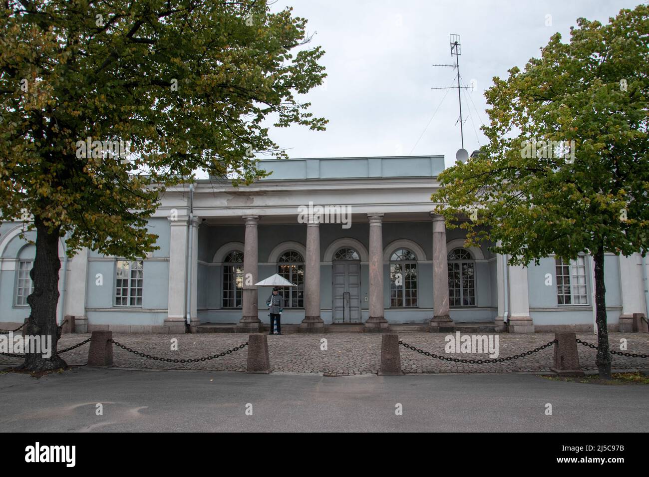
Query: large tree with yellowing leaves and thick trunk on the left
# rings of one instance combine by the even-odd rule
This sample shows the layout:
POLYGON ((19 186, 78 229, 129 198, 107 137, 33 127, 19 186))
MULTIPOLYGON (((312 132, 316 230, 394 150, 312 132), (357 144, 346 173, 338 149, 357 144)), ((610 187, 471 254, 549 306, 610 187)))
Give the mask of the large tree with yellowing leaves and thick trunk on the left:
POLYGON ((295 97, 325 76, 305 27, 255 0, 3 2, 0 215, 33 215, 28 334, 56 349, 60 237, 70 256, 141 257, 158 248, 144 226, 165 186, 197 169, 263 177, 252 151, 286 156, 267 117, 324 128, 295 97))

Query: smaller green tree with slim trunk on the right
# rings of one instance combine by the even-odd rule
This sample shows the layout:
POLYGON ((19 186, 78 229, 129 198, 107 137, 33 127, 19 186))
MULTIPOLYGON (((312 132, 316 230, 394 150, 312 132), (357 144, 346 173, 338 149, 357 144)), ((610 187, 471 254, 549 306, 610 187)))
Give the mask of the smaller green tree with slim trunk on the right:
POLYGON ((606 378, 604 254, 649 247, 648 13, 621 10, 606 25, 579 18, 569 43, 557 33, 523 71, 494 78, 488 145, 443 171, 432 196, 447 221, 473 215, 460 225, 469 243, 500 243, 491 249, 510 263, 593 256, 596 365, 606 378))

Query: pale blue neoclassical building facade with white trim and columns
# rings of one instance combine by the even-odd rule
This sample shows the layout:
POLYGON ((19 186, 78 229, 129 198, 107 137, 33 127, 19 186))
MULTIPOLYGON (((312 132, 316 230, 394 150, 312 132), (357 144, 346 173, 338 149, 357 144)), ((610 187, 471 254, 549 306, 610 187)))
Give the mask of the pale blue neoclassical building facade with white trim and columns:
MULTIPOLYGON (((593 329, 591 258, 520 267, 491 244, 465 247, 463 230, 447 230, 430 202, 442 156, 262 165, 272 174, 251 186, 213 178, 168 190, 147 226, 160 249, 141 260, 89 250, 62 258, 59 320, 74 316, 80 330, 254 332, 269 322, 271 293, 254 284, 277 273, 295 284, 280 293, 282 325, 296 331, 593 329)), ((34 245, 20 239, 23 226, 0 223, 4 329, 29 315, 34 245)), ((646 313, 643 267, 639 255, 606 256, 612 330, 646 313)))

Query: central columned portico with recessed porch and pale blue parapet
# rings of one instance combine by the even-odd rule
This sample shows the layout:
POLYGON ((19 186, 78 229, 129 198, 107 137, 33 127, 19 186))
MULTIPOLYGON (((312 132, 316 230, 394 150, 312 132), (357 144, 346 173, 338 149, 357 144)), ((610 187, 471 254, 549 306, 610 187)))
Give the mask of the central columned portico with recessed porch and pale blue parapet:
MULTIPOLYGON (((214 180, 196 185, 193 220, 200 225, 188 266, 197 271, 191 283, 197 290, 192 326, 236 323, 241 332, 261 330, 268 323, 269 289, 254 283, 279 273, 297 284, 282 289, 282 323, 299 324, 300 332, 319 332, 332 324, 362 325, 366 332, 384 332, 390 323, 453 328, 447 231, 430 202, 442 158, 350 158, 346 167, 366 177, 326 177, 337 162, 264 161, 273 175, 247 188, 214 180), (372 175, 396 174, 397 162, 408 166, 405 171, 428 168, 430 177, 372 175), (319 177, 312 177, 313 171, 319 177), (340 215, 316 214, 305 221, 300 212, 308 205, 311 210, 320 206, 325 214, 342 209, 349 215, 342 221, 340 215)), ((175 195, 166 194, 169 209, 175 195)), ((454 232, 454 238, 461 235, 454 232)), ((486 260, 480 263, 482 275, 489 266, 486 260)), ((497 304, 481 291, 482 309, 465 311, 469 319, 493 321, 497 304)))

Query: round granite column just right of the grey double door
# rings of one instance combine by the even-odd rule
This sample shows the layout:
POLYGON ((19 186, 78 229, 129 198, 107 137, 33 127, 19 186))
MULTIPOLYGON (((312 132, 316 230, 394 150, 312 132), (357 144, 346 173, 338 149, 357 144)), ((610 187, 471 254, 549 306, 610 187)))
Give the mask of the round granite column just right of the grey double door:
POLYGON ((369 318, 365 330, 389 329, 383 302, 383 214, 367 214, 369 219, 369 318))

